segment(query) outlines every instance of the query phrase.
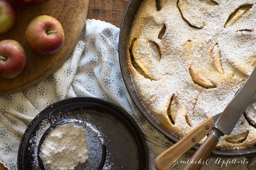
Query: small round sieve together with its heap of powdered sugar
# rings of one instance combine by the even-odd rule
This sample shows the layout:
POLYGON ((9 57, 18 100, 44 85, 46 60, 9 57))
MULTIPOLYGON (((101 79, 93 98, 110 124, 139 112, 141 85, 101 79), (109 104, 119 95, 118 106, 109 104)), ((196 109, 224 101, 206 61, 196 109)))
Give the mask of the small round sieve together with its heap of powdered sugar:
MULTIPOLYGON (((51 114, 49 120, 52 123, 51 114)), ((106 146, 100 132, 91 124, 62 119, 46 130, 37 154, 41 169, 102 169, 106 146)))

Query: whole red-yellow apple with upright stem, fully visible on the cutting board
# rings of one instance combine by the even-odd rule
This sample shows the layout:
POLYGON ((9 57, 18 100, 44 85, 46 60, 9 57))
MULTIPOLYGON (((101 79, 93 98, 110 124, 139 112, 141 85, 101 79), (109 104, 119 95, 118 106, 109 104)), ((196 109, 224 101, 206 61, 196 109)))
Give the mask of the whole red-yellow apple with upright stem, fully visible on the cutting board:
POLYGON ((49 55, 61 48, 64 31, 58 20, 48 15, 34 18, 25 31, 29 46, 39 55, 49 55))

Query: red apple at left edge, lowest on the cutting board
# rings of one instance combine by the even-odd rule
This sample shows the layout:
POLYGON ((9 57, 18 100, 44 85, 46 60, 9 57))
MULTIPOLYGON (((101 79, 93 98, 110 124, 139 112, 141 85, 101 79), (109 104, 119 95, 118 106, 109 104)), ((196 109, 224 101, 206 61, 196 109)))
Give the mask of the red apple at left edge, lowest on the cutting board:
POLYGON ((0 77, 14 78, 25 68, 24 48, 15 40, 0 41, 0 77))

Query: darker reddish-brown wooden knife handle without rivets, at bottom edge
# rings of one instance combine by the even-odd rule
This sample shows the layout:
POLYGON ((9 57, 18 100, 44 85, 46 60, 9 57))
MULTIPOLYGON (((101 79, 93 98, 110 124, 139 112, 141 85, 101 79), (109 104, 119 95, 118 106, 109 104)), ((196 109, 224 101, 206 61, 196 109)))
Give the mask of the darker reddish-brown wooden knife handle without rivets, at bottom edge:
POLYGON ((199 170, 202 167, 202 163, 207 160, 208 156, 212 153, 212 150, 214 150, 217 143, 218 139, 213 135, 209 135, 204 143, 191 157, 191 160, 188 162, 188 164, 185 165, 183 170, 199 170))

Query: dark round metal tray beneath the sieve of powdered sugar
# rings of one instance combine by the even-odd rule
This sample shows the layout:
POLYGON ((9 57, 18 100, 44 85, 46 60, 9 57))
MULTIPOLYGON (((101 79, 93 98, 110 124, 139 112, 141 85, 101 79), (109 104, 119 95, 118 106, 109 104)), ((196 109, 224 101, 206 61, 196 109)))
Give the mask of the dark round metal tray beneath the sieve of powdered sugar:
POLYGON ((21 139, 18 169, 40 169, 37 146, 44 132, 51 126, 48 115, 54 111, 62 115, 52 119, 56 122, 63 118, 83 120, 100 131, 106 144, 105 169, 148 169, 146 143, 135 121, 120 107, 94 97, 64 99, 40 112, 21 139))

